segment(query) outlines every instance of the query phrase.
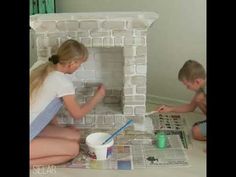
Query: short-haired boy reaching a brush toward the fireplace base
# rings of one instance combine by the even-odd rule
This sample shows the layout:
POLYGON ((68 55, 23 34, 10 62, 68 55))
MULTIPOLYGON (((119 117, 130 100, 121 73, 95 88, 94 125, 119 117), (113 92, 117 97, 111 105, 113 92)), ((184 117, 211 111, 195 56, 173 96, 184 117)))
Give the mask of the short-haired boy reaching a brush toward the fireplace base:
MULTIPOLYGON (((184 63, 178 74, 178 79, 187 89, 196 92, 189 104, 156 108, 159 113, 167 112, 192 112, 197 107, 206 115, 206 73, 203 66, 197 61, 188 60, 184 63)), ((192 127, 193 138, 200 141, 206 140, 206 120, 196 122, 192 127)))

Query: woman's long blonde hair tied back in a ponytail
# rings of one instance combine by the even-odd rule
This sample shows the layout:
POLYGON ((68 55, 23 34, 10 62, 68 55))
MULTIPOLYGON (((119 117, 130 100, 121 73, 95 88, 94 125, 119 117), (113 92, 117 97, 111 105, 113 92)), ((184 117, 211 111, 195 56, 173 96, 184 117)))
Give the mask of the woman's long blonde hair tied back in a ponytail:
POLYGON ((57 54, 52 55, 48 62, 38 66, 30 73, 30 99, 39 90, 45 78, 52 71, 55 71, 56 64, 68 64, 74 60, 86 61, 88 50, 76 40, 69 39, 65 41, 58 49, 57 54))

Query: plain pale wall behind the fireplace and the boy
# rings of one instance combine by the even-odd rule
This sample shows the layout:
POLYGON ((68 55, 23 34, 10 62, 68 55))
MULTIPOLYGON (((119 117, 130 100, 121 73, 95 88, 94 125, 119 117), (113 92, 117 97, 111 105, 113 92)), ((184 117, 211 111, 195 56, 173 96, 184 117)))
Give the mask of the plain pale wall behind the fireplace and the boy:
POLYGON ((193 93, 178 81, 188 59, 206 66, 206 0, 56 0, 61 12, 154 11, 148 31, 148 95, 185 102, 193 93))

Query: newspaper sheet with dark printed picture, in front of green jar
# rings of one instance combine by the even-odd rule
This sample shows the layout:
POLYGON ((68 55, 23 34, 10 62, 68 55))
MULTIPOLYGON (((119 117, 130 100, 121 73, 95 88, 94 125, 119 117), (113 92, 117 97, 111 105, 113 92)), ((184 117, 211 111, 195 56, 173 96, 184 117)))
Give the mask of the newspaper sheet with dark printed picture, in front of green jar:
POLYGON ((155 145, 132 146, 134 169, 157 167, 188 167, 188 157, 178 135, 167 135, 167 147, 155 145))

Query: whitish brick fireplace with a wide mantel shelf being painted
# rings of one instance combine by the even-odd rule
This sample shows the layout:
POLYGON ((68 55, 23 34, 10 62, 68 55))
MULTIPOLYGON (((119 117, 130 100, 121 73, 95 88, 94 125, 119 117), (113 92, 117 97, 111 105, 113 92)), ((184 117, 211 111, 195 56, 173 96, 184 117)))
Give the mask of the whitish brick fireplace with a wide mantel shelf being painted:
POLYGON ((63 108, 61 123, 112 128, 126 118, 142 122, 146 112, 147 30, 158 18, 154 12, 56 13, 30 16, 37 60, 48 60, 62 42, 75 39, 89 50, 88 60, 68 76, 80 103, 98 84, 106 96, 80 121, 63 108))

